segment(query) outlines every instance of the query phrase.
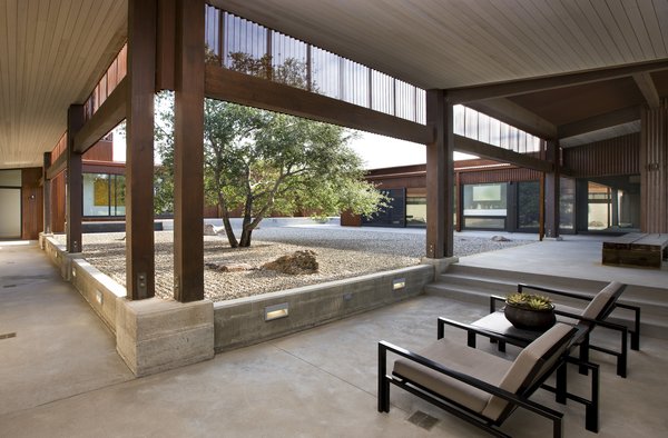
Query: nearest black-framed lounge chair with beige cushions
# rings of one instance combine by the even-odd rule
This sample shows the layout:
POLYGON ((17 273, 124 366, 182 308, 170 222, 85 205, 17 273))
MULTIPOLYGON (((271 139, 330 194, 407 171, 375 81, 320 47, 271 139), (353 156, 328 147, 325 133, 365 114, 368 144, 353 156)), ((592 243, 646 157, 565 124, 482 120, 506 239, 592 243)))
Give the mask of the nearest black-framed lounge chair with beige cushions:
MULTIPOLYGON (((529 399, 538 388, 557 394, 560 402, 572 399, 586 405, 587 429, 598 431, 598 366, 591 369, 591 400, 566 388, 566 364, 579 364, 568 348, 579 329, 557 323, 527 346, 514 361, 440 339, 420 352, 386 341, 379 342, 379 411, 390 411, 390 384, 432 402, 483 430, 505 437, 499 426, 518 408, 552 421, 554 437, 563 435, 562 414, 529 399), (401 356, 392 374, 386 372, 387 351, 401 356), (553 371, 556 387, 544 385, 553 371)), ((491 335, 493 336, 493 335, 491 335)))

